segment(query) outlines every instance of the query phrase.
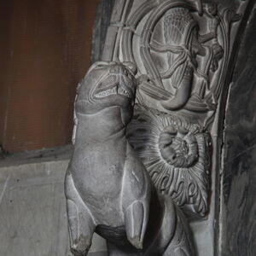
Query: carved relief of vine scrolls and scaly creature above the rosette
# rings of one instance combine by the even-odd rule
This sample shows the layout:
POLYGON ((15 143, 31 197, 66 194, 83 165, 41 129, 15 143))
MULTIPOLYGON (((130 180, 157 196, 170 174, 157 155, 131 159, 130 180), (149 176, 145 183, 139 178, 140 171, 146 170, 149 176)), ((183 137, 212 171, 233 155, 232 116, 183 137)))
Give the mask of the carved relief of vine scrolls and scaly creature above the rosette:
POLYGON ((205 113, 202 124, 208 126, 237 20, 240 15, 230 9, 200 1, 147 1, 119 32, 113 58, 137 64, 138 103, 167 113, 205 113))

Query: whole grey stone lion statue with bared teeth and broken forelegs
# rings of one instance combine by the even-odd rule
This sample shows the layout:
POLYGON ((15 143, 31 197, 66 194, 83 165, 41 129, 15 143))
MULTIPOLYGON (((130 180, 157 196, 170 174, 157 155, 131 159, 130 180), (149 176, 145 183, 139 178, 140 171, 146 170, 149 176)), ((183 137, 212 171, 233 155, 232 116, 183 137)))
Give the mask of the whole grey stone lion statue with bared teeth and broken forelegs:
POLYGON ((97 62, 79 85, 65 193, 71 250, 87 255, 96 232, 109 255, 191 256, 189 230, 154 190, 125 137, 136 93, 131 63, 97 62))

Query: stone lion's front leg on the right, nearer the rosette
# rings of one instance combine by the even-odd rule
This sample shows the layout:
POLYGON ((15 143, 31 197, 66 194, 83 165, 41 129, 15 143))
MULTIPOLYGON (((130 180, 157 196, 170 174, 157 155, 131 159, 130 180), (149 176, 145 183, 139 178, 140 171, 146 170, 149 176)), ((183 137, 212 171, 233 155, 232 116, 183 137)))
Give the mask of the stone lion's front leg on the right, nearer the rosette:
POLYGON ((148 225, 151 181, 137 155, 127 147, 122 187, 122 207, 128 240, 137 249, 143 248, 148 225))

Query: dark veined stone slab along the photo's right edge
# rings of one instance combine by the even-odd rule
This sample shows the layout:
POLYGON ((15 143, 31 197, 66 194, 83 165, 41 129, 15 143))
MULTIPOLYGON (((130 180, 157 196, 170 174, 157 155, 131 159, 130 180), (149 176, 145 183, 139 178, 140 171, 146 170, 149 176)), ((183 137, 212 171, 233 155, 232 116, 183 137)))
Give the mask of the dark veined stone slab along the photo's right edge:
POLYGON ((224 123, 220 255, 256 252, 256 8, 237 56, 224 123))

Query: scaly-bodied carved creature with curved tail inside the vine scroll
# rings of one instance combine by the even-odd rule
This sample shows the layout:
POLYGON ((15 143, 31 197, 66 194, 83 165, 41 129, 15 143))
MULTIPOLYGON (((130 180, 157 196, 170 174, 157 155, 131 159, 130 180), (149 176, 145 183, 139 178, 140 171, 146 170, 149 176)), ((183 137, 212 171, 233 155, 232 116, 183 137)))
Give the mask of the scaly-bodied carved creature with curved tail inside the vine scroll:
POLYGON ((167 54, 168 68, 160 72, 166 80, 165 89, 173 91, 168 100, 160 101, 166 109, 183 107, 188 101, 197 63, 195 55, 201 53, 197 44, 197 23, 186 8, 169 9, 164 15, 163 32, 166 43, 151 42, 151 49, 167 54), (196 51, 194 48, 197 48, 196 51))

